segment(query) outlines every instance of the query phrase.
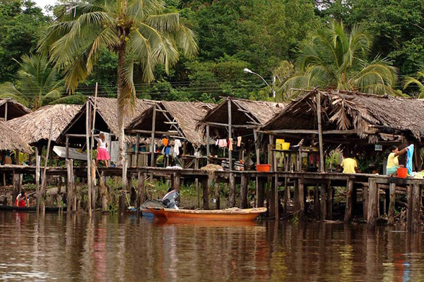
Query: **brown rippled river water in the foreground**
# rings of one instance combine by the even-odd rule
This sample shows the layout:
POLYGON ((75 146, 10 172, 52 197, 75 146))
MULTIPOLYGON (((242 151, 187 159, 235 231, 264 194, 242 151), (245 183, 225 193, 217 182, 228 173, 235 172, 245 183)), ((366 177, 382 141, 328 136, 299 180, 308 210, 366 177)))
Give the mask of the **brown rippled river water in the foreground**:
POLYGON ((424 281, 423 233, 0 212, 4 281, 424 281))

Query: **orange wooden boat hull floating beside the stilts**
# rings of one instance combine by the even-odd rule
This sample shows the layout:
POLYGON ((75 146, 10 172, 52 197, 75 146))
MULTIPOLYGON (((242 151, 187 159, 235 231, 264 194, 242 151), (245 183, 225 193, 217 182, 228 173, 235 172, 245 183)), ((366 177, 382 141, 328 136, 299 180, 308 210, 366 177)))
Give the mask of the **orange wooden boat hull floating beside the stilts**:
POLYGON ((148 207, 156 219, 165 221, 252 221, 266 212, 266 207, 255 209, 164 209, 148 207))

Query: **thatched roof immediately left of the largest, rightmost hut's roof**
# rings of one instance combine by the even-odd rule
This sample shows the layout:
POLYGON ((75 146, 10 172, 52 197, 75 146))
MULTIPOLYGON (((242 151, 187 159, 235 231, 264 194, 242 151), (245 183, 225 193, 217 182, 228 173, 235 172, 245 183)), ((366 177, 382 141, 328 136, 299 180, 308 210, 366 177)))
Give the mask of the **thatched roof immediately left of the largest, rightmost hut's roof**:
POLYGON ((226 138, 228 126, 228 102, 231 103, 231 123, 237 135, 252 133, 252 129, 259 128, 273 116, 284 109, 284 104, 265 101, 252 101, 226 97, 206 116, 199 121, 199 125, 209 125, 211 136, 226 138))

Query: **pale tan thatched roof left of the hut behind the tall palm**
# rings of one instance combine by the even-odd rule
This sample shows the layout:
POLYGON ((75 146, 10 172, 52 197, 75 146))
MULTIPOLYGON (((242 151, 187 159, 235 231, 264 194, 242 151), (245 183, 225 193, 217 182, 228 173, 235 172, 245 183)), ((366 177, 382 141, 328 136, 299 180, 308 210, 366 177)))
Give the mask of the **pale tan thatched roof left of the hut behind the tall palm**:
POLYGON ((16 130, 28 144, 35 145, 41 140, 49 139, 50 124, 53 121, 51 138, 56 142, 61 131, 80 109, 80 105, 43 106, 37 111, 8 121, 7 125, 16 130))

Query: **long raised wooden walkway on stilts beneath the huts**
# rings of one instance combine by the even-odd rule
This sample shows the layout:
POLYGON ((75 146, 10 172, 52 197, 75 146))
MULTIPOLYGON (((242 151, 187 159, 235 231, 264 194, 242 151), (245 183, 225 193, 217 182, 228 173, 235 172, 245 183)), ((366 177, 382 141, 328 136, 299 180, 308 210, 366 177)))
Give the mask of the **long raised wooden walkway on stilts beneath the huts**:
MULTIPOLYGON (((102 176, 122 176, 122 168, 98 168, 102 176)), ((35 174, 35 166, 0 166, 0 173, 13 174, 13 193, 18 194, 21 185, 22 174, 35 174)), ((86 178, 86 168, 73 167, 47 167, 47 175, 66 176, 68 187, 74 187, 75 176, 86 178)), ((216 208, 220 208, 219 183, 228 183, 230 188, 230 207, 235 207, 237 196, 240 197, 239 206, 247 208, 247 192, 249 182, 256 183, 256 205, 269 207, 269 217, 280 216, 278 202, 283 205, 283 213, 288 212, 290 189, 293 188, 293 211, 298 214, 300 220, 305 217, 307 188, 313 187, 313 211, 314 215, 321 219, 333 218, 333 190, 334 187, 346 187, 346 210, 344 221, 348 222, 358 207, 358 190, 362 190, 363 219, 369 226, 375 226, 380 216, 380 194, 384 195, 384 211, 387 212, 388 224, 394 223, 394 211, 396 191, 406 193, 407 199, 407 226, 409 230, 417 231, 420 226, 420 208, 422 205, 423 179, 392 178, 374 174, 343 174, 343 173, 309 173, 309 172, 283 172, 283 171, 214 171, 208 173, 200 169, 172 169, 172 168, 128 168, 129 179, 138 178, 139 201, 145 197, 144 183, 148 176, 170 178, 171 185, 179 190, 182 180, 196 179, 203 190, 203 208, 209 209, 210 189, 214 188, 216 208), (212 187, 214 183, 214 187, 212 187), (236 185, 240 185, 240 194, 236 195, 236 185), (278 193, 281 191, 283 196, 278 193), (384 192, 384 193, 382 193, 384 192), (279 201, 276 201, 278 199, 279 201)), ((70 199, 73 202, 72 199, 70 199)), ((356 212, 355 214, 358 214, 356 212)))

